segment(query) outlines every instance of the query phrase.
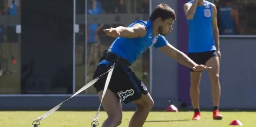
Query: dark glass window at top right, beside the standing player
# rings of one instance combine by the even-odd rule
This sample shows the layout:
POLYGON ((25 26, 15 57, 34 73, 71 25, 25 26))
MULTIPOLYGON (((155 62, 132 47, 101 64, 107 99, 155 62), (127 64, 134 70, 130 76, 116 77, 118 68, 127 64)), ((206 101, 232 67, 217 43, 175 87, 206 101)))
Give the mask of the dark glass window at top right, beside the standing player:
POLYGON ((256 35, 255 0, 214 0, 220 35, 256 35))

